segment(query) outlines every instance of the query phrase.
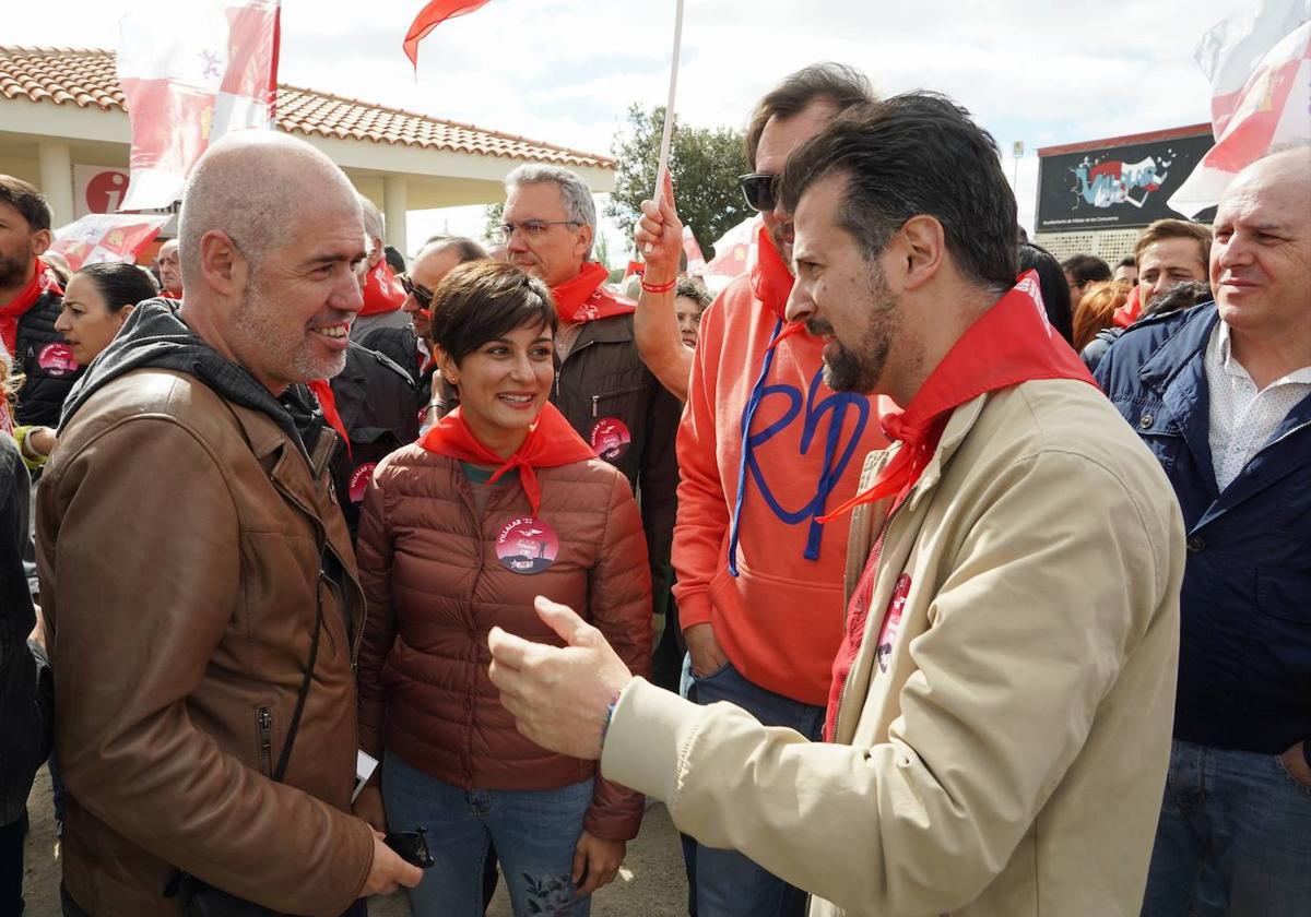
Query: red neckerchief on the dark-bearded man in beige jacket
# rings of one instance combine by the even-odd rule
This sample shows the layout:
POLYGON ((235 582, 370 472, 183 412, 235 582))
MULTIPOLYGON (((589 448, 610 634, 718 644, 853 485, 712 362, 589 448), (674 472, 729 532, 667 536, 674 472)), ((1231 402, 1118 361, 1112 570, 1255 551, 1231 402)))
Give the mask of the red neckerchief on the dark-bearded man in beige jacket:
POLYGON ((1033 379, 1096 385, 1083 360, 1047 322, 1037 271, 1027 271, 952 346, 906 410, 884 414, 884 432, 902 445, 878 479, 818 520, 826 523, 861 503, 909 491, 937 449, 954 409, 985 392, 1033 379))

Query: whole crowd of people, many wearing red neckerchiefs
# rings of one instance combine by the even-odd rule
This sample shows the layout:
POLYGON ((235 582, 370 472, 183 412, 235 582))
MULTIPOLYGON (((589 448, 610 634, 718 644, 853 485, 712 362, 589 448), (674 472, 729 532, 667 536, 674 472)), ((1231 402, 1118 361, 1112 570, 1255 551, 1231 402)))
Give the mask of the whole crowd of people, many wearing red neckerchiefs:
POLYGON ((713 301, 670 181, 624 296, 556 166, 406 262, 229 135, 71 275, 0 176, 0 910, 49 760, 69 917, 582 917, 652 798, 691 917, 1304 913, 1311 147, 1114 267, 850 67, 746 155, 713 301))

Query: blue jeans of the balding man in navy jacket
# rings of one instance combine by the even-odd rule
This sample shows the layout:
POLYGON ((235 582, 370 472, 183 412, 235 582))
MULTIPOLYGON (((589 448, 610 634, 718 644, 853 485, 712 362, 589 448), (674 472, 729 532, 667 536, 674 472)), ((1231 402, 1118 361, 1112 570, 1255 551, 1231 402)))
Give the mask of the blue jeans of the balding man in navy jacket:
POLYGON ((1142 913, 1311 913, 1311 787, 1276 755, 1176 740, 1142 913))

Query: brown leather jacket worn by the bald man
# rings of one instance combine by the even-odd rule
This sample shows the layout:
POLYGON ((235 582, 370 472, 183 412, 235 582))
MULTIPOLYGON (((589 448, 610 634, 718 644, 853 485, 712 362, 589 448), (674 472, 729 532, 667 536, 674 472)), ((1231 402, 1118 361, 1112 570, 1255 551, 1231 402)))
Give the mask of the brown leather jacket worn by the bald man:
POLYGON ((165 369, 105 383, 60 434, 38 563, 64 886, 89 914, 181 914, 163 897, 173 867, 298 914, 358 897, 374 850, 347 815, 363 596, 333 444, 325 431, 307 462, 269 414, 165 369), (320 597, 313 683, 274 783, 320 597))

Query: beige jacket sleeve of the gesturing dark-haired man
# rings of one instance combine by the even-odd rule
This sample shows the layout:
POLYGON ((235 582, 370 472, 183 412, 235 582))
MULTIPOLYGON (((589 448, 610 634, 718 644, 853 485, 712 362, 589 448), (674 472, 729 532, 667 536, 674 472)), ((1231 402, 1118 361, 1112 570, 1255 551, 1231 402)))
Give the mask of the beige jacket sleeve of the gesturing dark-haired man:
POLYGON ((981 486, 888 741, 812 744, 635 681, 603 773, 666 800, 699 841, 853 912, 975 899, 1083 747, 1183 538, 1083 456, 1042 453, 981 486))

